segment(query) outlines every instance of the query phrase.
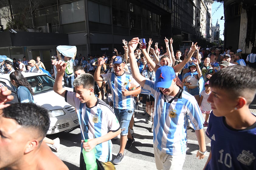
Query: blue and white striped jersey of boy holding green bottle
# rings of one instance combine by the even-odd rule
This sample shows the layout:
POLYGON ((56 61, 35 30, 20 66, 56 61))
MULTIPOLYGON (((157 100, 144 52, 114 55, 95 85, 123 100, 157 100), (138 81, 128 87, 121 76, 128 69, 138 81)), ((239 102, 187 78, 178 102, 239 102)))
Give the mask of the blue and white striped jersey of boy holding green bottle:
MULTIPOLYGON (((109 131, 116 132, 120 129, 113 109, 102 100, 98 99, 94 107, 88 108, 86 104, 82 104, 80 100, 75 97, 74 92, 66 91, 65 101, 74 106, 77 110, 83 140, 84 137, 86 139, 98 138, 106 135, 109 131)), ((82 145, 83 143, 81 143, 81 152, 83 149, 82 145)), ((112 160, 111 140, 96 145, 95 149, 95 157, 99 161, 108 162, 112 160)))

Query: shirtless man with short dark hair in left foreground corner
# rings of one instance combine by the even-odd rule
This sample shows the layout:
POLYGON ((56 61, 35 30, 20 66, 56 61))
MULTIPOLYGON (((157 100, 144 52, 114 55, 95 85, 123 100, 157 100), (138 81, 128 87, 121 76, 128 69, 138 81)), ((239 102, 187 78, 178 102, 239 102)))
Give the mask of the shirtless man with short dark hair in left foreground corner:
POLYGON ((10 93, 0 89, 0 170, 68 170, 42 142, 50 124, 47 110, 33 103, 5 105, 10 93))

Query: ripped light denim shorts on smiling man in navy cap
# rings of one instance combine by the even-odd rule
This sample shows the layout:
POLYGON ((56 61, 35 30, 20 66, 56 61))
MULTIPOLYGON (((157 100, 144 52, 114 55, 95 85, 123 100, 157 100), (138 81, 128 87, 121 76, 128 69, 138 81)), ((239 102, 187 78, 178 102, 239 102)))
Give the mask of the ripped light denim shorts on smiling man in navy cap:
POLYGON ((116 118, 120 123, 121 135, 122 136, 128 135, 128 127, 129 127, 129 124, 130 124, 130 120, 133 116, 133 110, 134 110, 133 108, 131 108, 131 109, 117 109, 117 108, 114 108, 116 118))

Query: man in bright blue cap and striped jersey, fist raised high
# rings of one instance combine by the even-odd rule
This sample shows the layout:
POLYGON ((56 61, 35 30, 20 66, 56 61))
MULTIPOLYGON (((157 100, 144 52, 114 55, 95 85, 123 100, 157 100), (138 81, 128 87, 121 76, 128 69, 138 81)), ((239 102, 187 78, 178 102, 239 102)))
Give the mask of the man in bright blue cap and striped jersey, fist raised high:
POLYGON ((181 170, 187 150, 188 119, 192 122, 199 143, 196 156, 199 159, 207 153, 202 112, 195 98, 179 87, 175 71, 170 66, 162 66, 156 71, 156 81, 147 80, 138 74, 138 66, 133 51, 139 38, 128 43, 130 66, 134 79, 141 85, 141 93, 153 95, 154 109, 154 157, 157 169, 181 170))

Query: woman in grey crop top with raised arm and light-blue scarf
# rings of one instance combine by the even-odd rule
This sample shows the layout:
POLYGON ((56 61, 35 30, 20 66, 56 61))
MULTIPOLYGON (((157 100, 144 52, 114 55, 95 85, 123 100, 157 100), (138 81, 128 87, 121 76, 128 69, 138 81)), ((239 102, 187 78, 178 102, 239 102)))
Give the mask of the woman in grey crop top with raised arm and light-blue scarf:
POLYGON ((193 95, 197 102, 199 102, 199 85, 198 81, 202 76, 201 69, 198 65, 197 59, 194 59, 191 65, 189 65, 189 72, 184 75, 182 83, 186 86, 185 91, 193 95))

